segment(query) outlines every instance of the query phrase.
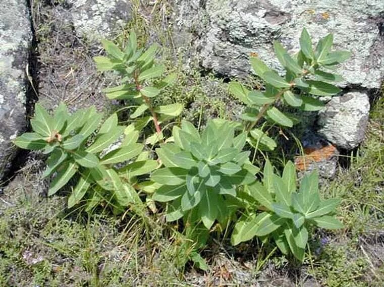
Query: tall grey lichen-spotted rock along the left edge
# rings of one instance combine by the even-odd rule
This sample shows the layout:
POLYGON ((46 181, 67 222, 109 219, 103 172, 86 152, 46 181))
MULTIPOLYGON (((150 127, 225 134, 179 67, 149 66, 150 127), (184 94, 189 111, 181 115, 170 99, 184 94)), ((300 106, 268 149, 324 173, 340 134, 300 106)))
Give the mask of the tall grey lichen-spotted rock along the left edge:
POLYGON ((0 179, 10 167, 16 147, 11 140, 25 131, 26 67, 32 40, 26 2, 0 3, 0 179))

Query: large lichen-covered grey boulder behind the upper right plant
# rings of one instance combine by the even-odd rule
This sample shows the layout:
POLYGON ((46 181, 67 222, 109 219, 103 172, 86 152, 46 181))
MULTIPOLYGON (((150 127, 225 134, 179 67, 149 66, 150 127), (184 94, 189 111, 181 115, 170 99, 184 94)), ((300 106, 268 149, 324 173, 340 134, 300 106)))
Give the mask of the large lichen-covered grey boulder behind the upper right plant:
MULTIPOLYGON (((175 16, 174 22, 198 35, 201 62, 207 69, 223 75, 248 75, 250 53, 257 53, 270 67, 280 70, 273 53, 273 40, 282 42, 290 52, 297 51, 301 30, 306 27, 314 42, 332 32, 335 48, 352 52, 352 58, 338 68, 346 79, 342 87, 380 88, 384 76, 382 0, 351 0, 348 5, 331 0, 191 0, 183 3, 178 8, 181 14, 175 16), (198 3, 202 5, 197 12, 198 3), (186 12, 188 7, 194 8, 192 12, 186 12), (190 19, 194 19, 193 23, 190 19)), ((190 44, 189 37, 186 40, 190 44)))

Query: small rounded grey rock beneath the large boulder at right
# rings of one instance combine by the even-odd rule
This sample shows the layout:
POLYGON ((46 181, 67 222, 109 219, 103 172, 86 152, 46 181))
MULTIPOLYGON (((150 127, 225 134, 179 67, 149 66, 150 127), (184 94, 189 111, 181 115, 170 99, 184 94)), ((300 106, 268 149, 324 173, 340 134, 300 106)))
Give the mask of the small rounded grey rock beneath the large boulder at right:
POLYGON ((369 108, 366 92, 351 91, 333 97, 319 112, 318 133, 339 148, 354 149, 364 139, 369 108))

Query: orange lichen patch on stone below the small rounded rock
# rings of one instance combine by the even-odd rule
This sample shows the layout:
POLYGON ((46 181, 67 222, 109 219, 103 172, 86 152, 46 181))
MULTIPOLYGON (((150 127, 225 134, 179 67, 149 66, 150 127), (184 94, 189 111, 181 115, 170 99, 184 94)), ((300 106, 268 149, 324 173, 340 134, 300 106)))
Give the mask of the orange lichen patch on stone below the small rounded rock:
POLYGON ((304 155, 295 157, 295 165, 299 170, 306 170, 311 162, 327 160, 337 154, 334 145, 327 145, 321 148, 304 148, 304 155))

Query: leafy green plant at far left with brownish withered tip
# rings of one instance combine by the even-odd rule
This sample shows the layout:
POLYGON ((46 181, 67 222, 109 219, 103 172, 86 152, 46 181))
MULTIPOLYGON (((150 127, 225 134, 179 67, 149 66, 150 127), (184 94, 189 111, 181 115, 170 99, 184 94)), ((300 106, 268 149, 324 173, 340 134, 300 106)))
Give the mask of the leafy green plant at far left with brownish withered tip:
POLYGON ((102 114, 94 107, 70 114, 61 103, 50 116, 36 104, 35 117, 31 120, 34 132, 24 133, 14 143, 24 149, 50 154, 43 173, 44 177, 53 176, 48 195, 58 192, 78 174, 68 207, 85 197, 88 209, 106 200, 119 212, 132 203, 141 204, 134 189, 136 177, 156 168, 157 162, 148 159, 144 146, 136 143, 139 135, 133 126, 118 125, 116 113, 99 127, 101 119, 102 114), (118 148, 108 150, 122 137, 118 148))

